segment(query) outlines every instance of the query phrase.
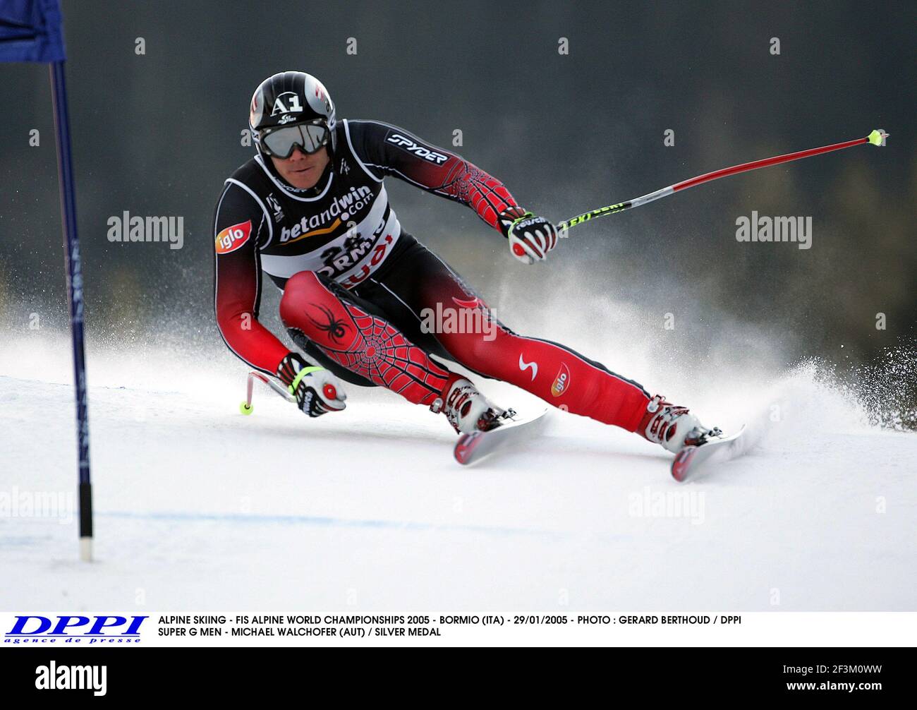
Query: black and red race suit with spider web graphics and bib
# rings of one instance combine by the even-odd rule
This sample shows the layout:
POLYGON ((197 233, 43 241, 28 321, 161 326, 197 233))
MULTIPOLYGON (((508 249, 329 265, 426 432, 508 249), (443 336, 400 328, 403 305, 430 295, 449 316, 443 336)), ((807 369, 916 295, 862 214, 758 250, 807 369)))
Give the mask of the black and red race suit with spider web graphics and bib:
POLYGON ((350 383, 431 404, 449 374, 433 354, 634 431, 646 390, 496 320, 455 271, 403 231, 384 178, 469 205, 498 231, 500 212, 516 205, 503 183, 403 128, 345 119, 335 130, 337 148, 315 188, 291 187, 262 155, 226 180, 214 225, 216 321, 226 346, 270 374, 290 352, 258 321, 263 272, 284 292, 281 317, 296 345, 350 383), (472 311, 493 327, 428 327, 431 314, 443 313, 480 324, 464 317, 472 311))

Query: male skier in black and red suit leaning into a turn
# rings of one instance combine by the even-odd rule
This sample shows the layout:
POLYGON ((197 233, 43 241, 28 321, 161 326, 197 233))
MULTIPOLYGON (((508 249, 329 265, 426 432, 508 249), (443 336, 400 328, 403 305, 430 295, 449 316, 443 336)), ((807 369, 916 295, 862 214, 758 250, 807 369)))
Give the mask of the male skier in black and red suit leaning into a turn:
POLYGON ((499 426, 505 410, 442 364, 453 361, 672 452, 711 433, 687 408, 601 363, 504 326, 403 230, 385 191, 384 178, 393 176, 468 205, 507 239, 515 259, 545 260, 557 229, 487 172, 403 128, 337 120, 325 86, 304 72, 260 83, 249 128, 257 154, 226 180, 216 204, 216 321, 226 346, 278 377, 305 414, 344 409, 343 380, 442 412, 457 432, 499 426), (282 322, 303 354, 259 323, 261 272, 282 289, 282 322), (422 312, 448 309, 458 322, 479 316, 491 328, 422 327, 422 312))

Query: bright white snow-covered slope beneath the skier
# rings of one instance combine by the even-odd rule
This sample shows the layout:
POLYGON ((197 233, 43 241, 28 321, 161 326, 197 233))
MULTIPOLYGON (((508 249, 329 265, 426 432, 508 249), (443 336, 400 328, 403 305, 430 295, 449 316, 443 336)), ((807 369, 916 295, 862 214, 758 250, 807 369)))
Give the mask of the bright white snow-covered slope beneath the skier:
POLYGON ((391 393, 351 387, 345 413, 310 420, 261 387, 242 416, 226 353, 93 347, 83 564, 69 357, 61 333, 0 346, 2 610, 917 609, 917 435, 868 427, 805 368, 674 387, 753 445, 679 484, 664 451, 579 416, 463 468, 445 420, 391 393), (64 515, 28 515, 50 493, 64 515))

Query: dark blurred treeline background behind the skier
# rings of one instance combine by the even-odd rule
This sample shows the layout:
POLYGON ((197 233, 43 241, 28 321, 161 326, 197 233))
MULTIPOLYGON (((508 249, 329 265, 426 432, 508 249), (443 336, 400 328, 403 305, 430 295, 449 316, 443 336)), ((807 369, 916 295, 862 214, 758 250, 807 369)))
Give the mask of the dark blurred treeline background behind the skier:
MULTIPOLYGON (((62 10, 95 338, 181 324, 222 347, 212 316, 215 199, 252 154, 241 134, 254 87, 302 69, 326 83, 338 116, 379 118, 457 150, 558 221, 885 128, 882 150, 730 178, 577 227, 536 272, 470 210, 391 180, 389 191, 403 225, 492 298, 527 293, 569 308, 613 294, 646 305, 659 327, 662 312, 709 309, 778 339, 788 360, 855 364, 910 347, 912 3, 64 0, 62 10), (560 38, 569 55, 558 54, 560 38), (453 148, 457 128, 463 145, 453 148), (668 128, 673 147, 663 144, 668 128), (183 249, 110 243, 106 220, 125 210, 183 216, 183 249), (812 249, 738 243, 735 219, 752 210, 812 216, 812 249)), ((0 67, 0 101, 0 317, 25 327, 38 311, 62 325, 47 68, 0 67), (39 147, 28 144, 33 128, 39 147)))

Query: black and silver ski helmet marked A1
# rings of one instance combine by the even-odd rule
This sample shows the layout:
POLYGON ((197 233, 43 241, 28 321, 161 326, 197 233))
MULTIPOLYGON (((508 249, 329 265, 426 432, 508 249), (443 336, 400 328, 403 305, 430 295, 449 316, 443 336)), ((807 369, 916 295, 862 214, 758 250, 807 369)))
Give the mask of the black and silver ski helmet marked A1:
POLYGON ((337 148, 335 104, 325 88, 312 74, 279 72, 261 82, 251 95, 249 128, 261 150, 265 129, 295 126, 322 120, 331 134, 330 152, 337 148))

